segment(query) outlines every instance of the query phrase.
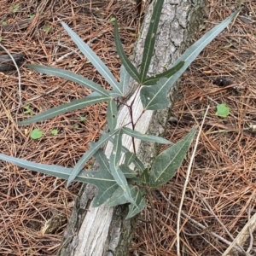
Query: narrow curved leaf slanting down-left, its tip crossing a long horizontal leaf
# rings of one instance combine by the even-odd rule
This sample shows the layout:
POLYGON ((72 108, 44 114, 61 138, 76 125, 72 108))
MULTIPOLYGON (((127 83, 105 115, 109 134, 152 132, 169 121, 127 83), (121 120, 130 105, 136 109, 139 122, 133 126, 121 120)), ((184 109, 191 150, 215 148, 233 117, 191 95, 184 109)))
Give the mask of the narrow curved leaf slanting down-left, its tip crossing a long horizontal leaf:
POLYGON ((80 160, 77 162, 77 164, 73 168, 73 172, 70 174, 70 177, 67 179, 67 187, 70 185, 70 183, 73 182, 75 177, 79 174, 79 172, 84 167, 85 163, 90 160, 90 157, 92 157, 98 149, 102 147, 104 143, 107 143, 109 138, 112 137, 114 134, 116 134, 120 129, 114 130, 112 132, 106 133, 103 135, 96 143, 90 143, 90 149, 84 153, 84 155, 80 158, 80 160))

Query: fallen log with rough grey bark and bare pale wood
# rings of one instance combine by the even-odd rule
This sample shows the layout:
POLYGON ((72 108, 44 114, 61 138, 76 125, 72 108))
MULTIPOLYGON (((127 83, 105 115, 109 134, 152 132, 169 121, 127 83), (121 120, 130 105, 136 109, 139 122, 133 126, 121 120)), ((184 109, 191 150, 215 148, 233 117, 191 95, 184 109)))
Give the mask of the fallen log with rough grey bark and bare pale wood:
MULTIPOLYGON (((154 1, 148 6, 143 31, 137 42, 134 56, 137 67, 142 59, 144 39, 148 31, 153 6, 154 1)), ((197 0, 195 3, 191 3, 189 0, 166 0, 160 18, 152 64, 149 67, 151 75, 164 71, 166 67, 171 67, 183 50, 192 43, 191 40, 200 25, 203 6, 204 0, 197 0)), ((130 86, 135 86, 135 84, 131 83, 130 86)), ((170 91, 170 108, 172 108, 173 96, 177 87, 178 83, 170 91)), ((128 103, 133 99, 135 101, 133 117, 137 120, 143 108, 139 97, 135 94, 131 96, 128 103)), ((166 129, 168 113, 170 113, 169 108, 163 111, 144 113, 142 119, 137 123, 137 131, 150 134, 163 133, 166 129)), ((127 124, 129 119, 130 115, 127 109, 122 108, 119 112, 118 124, 127 124)), ((132 150, 130 137, 124 136, 123 143, 126 148, 132 150)), ((109 143, 105 150, 106 154, 109 154, 111 147, 109 143)), ((153 160, 157 151, 154 144, 141 143, 138 140, 136 148, 139 158, 146 165, 153 160)), ((90 185, 84 185, 81 189, 63 236, 59 256, 128 255, 136 227, 136 218, 125 220, 127 206, 90 207, 95 193, 96 189, 90 185)))

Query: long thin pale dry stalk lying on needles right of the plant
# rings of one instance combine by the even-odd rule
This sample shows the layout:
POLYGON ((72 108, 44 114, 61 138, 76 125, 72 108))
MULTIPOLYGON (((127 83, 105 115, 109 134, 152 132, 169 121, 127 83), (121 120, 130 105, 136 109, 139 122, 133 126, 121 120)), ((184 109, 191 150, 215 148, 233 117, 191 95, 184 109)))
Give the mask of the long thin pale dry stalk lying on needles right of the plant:
POLYGON ((180 202, 178 213, 177 213, 177 256, 181 256, 181 254, 180 254, 179 232, 180 232, 180 219, 181 219, 181 212, 182 212, 182 208, 183 208, 183 201, 184 201, 186 189, 187 189, 187 186, 188 186, 188 183, 189 183, 189 175, 190 175, 192 164, 193 164, 193 161, 194 161, 194 158, 195 158, 195 151, 196 151, 197 145, 199 143, 199 138, 201 136, 202 127, 204 125, 204 122, 205 122, 205 119, 206 119, 209 108, 210 108, 210 106, 207 107, 207 111, 204 115, 204 118, 203 118, 202 123, 201 123, 200 130, 199 130, 198 135, 196 137, 195 148, 193 150, 193 153, 191 155, 191 159, 189 161, 188 172, 187 172, 186 180, 185 180, 185 183, 184 183, 184 186, 183 186, 183 194, 182 194, 181 202, 180 202))

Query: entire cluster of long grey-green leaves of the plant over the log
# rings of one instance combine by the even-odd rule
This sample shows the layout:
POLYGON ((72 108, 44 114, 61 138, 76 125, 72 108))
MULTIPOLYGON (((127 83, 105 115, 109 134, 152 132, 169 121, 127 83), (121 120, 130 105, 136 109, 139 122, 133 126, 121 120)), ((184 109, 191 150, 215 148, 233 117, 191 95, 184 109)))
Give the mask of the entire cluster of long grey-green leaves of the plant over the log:
MULTIPOLYGON (((123 135, 131 136, 133 143, 134 138, 153 143, 172 143, 162 137, 143 134, 131 129, 131 127, 135 126, 134 124, 132 124, 131 127, 129 124, 116 127, 119 98, 126 96, 130 79, 134 79, 140 87, 139 96, 143 104, 143 112, 146 110, 166 108, 169 104, 166 95, 177 78, 179 78, 184 70, 189 67, 190 63, 195 60, 195 57, 199 55, 201 50, 209 44, 219 32, 223 31, 224 28, 228 26, 236 15, 236 13, 230 15, 230 17, 221 24, 214 27, 210 32, 207 32, 205 36, 185 51, 176 63, 174 63, 172 68, 164 73, 148 77, 148 67, 154 51, 163 3, 164 0, 158 0, 154 5, 154 12, 148 28, 148 34, 143 49, 143 59, 139 71, 125 55, 119 38, 117 20, 113 20, 116 49, 122 62, 119 82, 113 77, 113 74, 102 60, 90 49, 89 45, 85 44, 66 23, 61 21, 62 26, 73 39, 73 42, 96 67, 97 71, 102 74, 102 77, 112 86, 113 90, 105 90, 90 79, 86 79, 79 74, 67 70, 27 64, 26 67, 32 68, 39 73, 54 75, 78 83, 92 90, 92 93, 82 99, 69 102, 57 108, 51 108, 43 113, 38 113, 29 119, 21 121, 19 125, 29 125, 34 122, 53 118, 62 113, 85 108, 92 104, 108 102, 107 120, 109 130, 107 133, 102 132, 102 137, 96 143, 90 143, 90 149, 84 153, 73 168, 38 164, 4 154, 0 154, 0 159, 32 171, 67 179, 67 186, 74 180, 96 185, 98 193, 92 203, 94 207, 98 207, 106 201, 108 201, 109 207, 129 203, 129 213, 126 218, 131 218, 138 212, 143 211, 146 203, 144 197, 146 191, 160 187, 175 175, 176 170, 181 166, 189 146, 195 137, 196 127, 194 127, 186 137, 183 137, 181 141, 159 154, 148 169, 143 165, 143 162, 138 159, 136 152, 131 152, 128 148, 123 146, 123 135), (108 142, 113 143, 113 149, 109 159, 102 151, 103 145, 108 142), (99 170, 84 170, 84 165, 91 157, 94 157, 99 163, 99 170)), ((132 103, 131 106, 128 107, 132 111, 132 103)), ((36 136, 38 136, 38 134, 36 134, 36 136)))

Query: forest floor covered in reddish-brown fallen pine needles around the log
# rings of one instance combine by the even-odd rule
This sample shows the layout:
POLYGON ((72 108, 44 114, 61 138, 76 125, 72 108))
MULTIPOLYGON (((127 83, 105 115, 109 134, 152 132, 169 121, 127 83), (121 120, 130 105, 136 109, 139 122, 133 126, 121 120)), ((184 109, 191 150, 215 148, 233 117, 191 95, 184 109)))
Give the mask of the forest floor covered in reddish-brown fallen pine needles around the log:
MULTIPOLYGON (((136 42, 140 19, 134 4, 107 2, 99 9, 92 6, 88 12, 79 1, 72 0, 0 0, 1 44, 11 54, 24 54, 26 63, 65 68, 109 89, 96 69, 76 51, 57 20, 58 17, 67 22, 89 42, 118 79, 120 61, 111 18, 114 15, 119 20, 120 36, 128 55, 136 42)), ((236 1, 208 0, 196 38, 236 7, 236 1)), ((255 1, 244 1, 236 20, 184 73, 177 92, 172 121, 166 131, 166 138, 173 143, 193 125, 201 125, 209 106, 183 201, 179 234, 182 255, 222 255, 229 247, 227 241, 241 236, 242 228, 256 212, 255 10, 255 1), (221 103, 230 108, 227 117, 216 114, 221 103)), ((5 54, 0 49, 0 56, 5 54)), ((0 73, 0 152, 45 164, 74 166, 106 124, 106 105, 97 104, 42 123, 17 126, 16 120, 26 119, 31 113, 90 93, 78 84, 23 66, 20 76, 19 90, 16 72, 0 73), (44 131, 44 137, 33 140, 29 135, 36 128, 44 131), (58 133, 53 135, 55 129, 58 133)), ((155 222, 138 224, 131 255, 177 255, 177 208, 192 149, 177 175, 155 194, 155 222)), ((81 184, 73 183, 67 189, 64 180, 28 172, 3 161, 0 177, 0 254, 55 255, 81 184), (47 229, 47 221, 54 218, 55 228, 47 229)), ((149 218, 149 207, 143 214, 149 218)), ((239 243, 250 255, 256 255, 255 232, 249 229, 246 233, 247 239, 240 239, 239 243)))

